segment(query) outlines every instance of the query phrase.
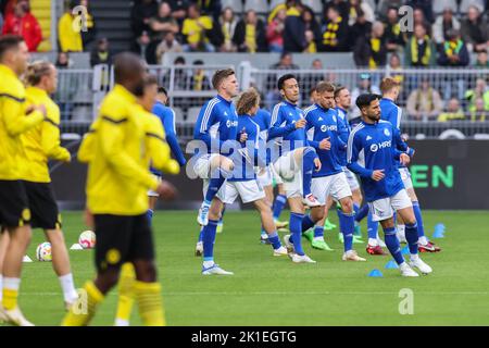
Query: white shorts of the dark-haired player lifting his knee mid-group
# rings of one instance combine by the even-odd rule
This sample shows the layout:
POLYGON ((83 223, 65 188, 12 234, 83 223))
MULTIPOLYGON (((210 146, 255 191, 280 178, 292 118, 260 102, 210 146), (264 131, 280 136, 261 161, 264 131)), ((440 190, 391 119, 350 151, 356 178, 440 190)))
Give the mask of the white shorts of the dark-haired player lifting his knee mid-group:
POLYGON ((293 151, 276 160, 274 169, 284 182, 287 198, 302 197, 302 163, 296 163, 293 151))

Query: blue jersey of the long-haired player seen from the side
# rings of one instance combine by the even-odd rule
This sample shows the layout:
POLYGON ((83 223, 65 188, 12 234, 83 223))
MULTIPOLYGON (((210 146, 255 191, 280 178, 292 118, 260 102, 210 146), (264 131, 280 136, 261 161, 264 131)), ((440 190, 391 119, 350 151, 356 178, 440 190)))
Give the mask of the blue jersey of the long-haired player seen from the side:
POLYGON ((256 179, 255 166, 266 165, 266 142, 260 139, 260 125, 254 121, 255 116, 248 114, 238 116, 238 134, 236 140, 243 133, 248 135, 246 142, 240 142, 246 152, 235 152, 231 156, 235 167, 229 182, 247 182, 256 179))

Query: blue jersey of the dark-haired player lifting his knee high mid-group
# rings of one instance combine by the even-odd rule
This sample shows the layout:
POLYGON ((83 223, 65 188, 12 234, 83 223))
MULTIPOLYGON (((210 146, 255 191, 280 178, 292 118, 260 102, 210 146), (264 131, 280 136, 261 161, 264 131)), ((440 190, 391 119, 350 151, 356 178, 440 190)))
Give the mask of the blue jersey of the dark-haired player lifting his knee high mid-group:
POLYGON ((309 146, 305 127, 296 129, 296 122, 301 119, 304 119, 303 111, 288 101, 274 107, 268 139, 277 141, 278 150, 272 153, 272 161, 297 148, 309 146))

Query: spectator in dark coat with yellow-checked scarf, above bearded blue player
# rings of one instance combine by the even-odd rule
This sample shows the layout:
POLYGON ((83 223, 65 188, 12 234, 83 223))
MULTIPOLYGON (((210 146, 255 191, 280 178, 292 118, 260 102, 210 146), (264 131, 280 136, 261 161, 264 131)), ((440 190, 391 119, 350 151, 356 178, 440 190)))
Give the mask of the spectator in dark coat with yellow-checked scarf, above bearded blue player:
POLYGON ((323 51, 342 52, 348 50, 348 20, 340 15, 340 10, 329 7, 323 25, 323 51))

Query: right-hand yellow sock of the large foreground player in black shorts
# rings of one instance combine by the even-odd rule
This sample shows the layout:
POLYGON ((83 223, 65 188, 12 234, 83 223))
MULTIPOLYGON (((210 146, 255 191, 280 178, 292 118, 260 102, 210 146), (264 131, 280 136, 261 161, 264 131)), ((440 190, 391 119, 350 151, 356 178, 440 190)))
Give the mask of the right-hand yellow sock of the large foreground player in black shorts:
POLYGON ((136 281, 134 289, 143 324, 146 326, 165 326, 160 283, 136 281))

